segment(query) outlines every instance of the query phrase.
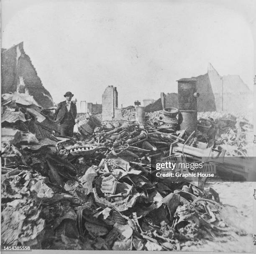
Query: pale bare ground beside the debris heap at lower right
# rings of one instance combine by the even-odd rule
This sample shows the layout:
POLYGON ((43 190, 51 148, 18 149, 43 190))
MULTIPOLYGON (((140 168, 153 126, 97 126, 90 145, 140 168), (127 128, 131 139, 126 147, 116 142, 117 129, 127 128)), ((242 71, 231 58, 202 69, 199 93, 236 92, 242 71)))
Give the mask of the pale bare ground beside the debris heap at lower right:
POLYGON ((236 208, 237 213, 230 213, 230 219, 245 230, 247 235, 224 236, 215 241, 204 241, 202 245, 183 247, 182 251, 253 252, 253 193, 256 183, 209 182, 205 184, 207 187, 219 193, 223 205, 236 208))

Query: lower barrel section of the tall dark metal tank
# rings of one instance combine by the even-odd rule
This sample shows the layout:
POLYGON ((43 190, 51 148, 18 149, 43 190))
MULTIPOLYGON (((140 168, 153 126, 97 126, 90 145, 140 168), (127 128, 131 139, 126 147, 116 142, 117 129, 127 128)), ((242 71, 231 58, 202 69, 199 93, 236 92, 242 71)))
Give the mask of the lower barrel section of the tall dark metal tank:
POLYGON ((179 111, 180 129, 191 134, 194 130, 197 130, 197 111, 196 110, 180 110, 179 111))

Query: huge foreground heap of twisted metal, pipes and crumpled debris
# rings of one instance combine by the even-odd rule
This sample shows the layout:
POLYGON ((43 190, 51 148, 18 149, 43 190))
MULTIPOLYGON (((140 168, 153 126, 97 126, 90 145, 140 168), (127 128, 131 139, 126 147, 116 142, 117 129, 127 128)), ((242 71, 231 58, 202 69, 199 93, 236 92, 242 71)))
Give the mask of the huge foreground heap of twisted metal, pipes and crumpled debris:
MULTIPOLYGON (((217 133, 214 120, 199 119, 202 135, 196 136, 156 119, 161 112, 152 112, 145 125, 102 124, 88 114, 77 119, 69 138, 43 113, 51 109, 29 99, 2 96, 3 245, 179 251, 202 239, 246 234, 224 216, 227 208, 212 188, 197 187, 189 178, 156 176, 156 163, 163 161, 208 165, 205 153, 220 153, 209 145, 217 133)), ((245 127, 241 122, 235 127, 219 135, 246 153, 245 127)))

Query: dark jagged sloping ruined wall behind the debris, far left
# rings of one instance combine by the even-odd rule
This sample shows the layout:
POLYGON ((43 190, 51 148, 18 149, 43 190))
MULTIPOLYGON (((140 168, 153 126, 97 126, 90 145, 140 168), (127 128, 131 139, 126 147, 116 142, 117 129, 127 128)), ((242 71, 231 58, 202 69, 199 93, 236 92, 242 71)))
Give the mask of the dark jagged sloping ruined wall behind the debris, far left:
POLYGON ((2 94, 27 91, 40 106, 54 106, 51 94, 42 85, 35 67, 23 49, 23 42, 8 50, 2 49, 1 57, 2 94))

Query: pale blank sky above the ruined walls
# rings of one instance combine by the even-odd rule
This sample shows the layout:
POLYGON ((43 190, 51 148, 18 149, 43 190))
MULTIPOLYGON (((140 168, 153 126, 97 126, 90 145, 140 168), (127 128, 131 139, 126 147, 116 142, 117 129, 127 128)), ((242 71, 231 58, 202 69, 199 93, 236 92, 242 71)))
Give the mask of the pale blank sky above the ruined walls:
POLYGON ((108 85, 117 87, 119 106, 158 99, 177 91, 177 79, 205 74, 209 62, 253 86, 253 38, 234 9, 196 1, 1 2, 2 48, 24 42, 55 102, 72 91, 78 101, 101 103, 108 85))

